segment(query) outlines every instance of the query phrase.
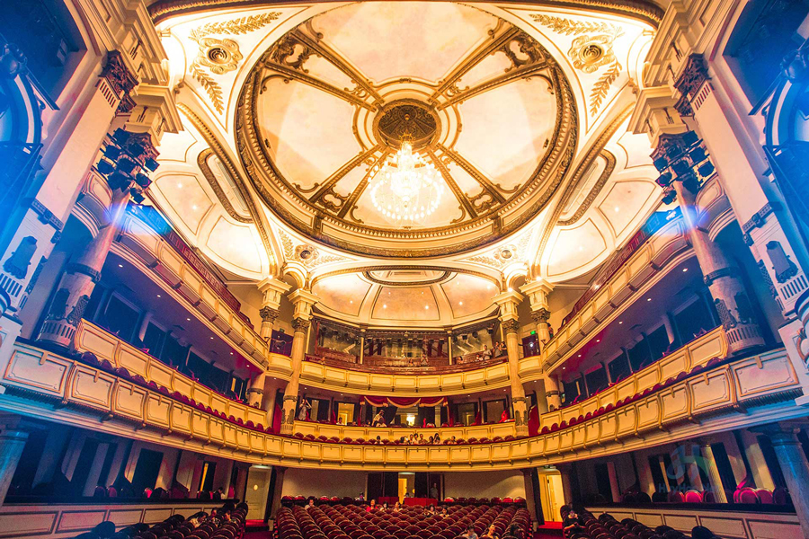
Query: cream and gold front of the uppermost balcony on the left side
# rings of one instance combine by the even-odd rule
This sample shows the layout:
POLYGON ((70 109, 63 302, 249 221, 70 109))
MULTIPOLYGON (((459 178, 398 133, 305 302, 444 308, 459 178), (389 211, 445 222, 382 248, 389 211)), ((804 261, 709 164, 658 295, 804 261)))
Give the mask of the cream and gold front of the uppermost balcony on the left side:
MULTIPOLYGON (((151 225, 128 211, 121 225, 118 242, 112 247, 124 258, 163 285, 166 294, 185 305, 189 313, 197 314, 213 331, 244 357, 261 367, 267 367, 270 351, 266 341, 244 322, 243 314, 236 311, 221 290, 209 285, 181 253, 166 242, 151 225)), ((235 299, 235 298, 234 298, 235 299)))

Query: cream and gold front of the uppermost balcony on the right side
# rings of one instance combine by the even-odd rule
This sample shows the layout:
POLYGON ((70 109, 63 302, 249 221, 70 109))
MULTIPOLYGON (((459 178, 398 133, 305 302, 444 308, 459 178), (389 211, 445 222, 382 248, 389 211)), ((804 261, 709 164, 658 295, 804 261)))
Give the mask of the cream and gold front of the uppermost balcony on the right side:
MULTIPOLYGON (((546 372, 560 367, 573 356, 588 336, 595 335, 632 303, 653 287, 668 270, 692 256, 689 238, 681 216, 667 222, 645 238, 627 259, 609 270, 609 279, 578 305, 573 316, 547 342, 540 355, 546 372)), ((581 300, 580 300, 581 301, 581 300)))

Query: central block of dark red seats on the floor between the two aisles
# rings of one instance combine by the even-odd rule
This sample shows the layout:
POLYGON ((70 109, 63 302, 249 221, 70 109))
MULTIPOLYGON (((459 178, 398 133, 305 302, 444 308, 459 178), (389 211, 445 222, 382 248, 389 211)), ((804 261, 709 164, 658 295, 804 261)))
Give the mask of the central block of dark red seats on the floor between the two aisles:
POLYGON ((422 507, 369 511, 353 504, 281 508, 275 519, 277 539, 456 539, 467 526, 482 535, 491 525, 503 539, 520 539, 529 537, 531 519, 513 506, 456 505, 441 517, 422 507), (517 535, 506 535, 511 530, 517 535))

